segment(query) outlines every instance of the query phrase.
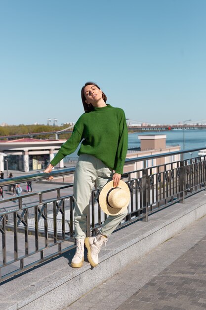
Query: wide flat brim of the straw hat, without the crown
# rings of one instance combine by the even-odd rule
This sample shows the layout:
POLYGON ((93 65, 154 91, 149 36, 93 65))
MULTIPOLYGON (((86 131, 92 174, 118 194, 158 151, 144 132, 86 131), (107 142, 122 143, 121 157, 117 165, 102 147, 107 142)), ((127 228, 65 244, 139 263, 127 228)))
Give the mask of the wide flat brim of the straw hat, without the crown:
POLYGON ((105 184, 105 186, 102 188, 99 194, 99 205, 106 214, 118 215, 118 214, 121 214, 124 211, 124 209, 128 207, 129 200, 130 200, 130 191, 129 191, 127 184, 124 181, 120 180, 118 188, 122 188, 125 191, 126 204, 122 208, 113 208, 107 204, 107 194, 112 188, 113 188, 113 181, 110 181, 107 184, 105 184))

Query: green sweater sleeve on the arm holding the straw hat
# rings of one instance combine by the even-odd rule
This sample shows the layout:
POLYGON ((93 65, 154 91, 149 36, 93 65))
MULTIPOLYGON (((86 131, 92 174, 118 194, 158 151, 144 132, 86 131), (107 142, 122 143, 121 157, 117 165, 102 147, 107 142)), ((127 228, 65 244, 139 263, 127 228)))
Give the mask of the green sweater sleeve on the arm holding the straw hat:
POLYGON ((125 114, 124 111, 122 110, 122 115, 120 119, 120 136, 116 155, 116 169, 115 169, 116 173, 120 174, 123 173, 127 148, 128 148, 128 130, 126 125, 125 114))

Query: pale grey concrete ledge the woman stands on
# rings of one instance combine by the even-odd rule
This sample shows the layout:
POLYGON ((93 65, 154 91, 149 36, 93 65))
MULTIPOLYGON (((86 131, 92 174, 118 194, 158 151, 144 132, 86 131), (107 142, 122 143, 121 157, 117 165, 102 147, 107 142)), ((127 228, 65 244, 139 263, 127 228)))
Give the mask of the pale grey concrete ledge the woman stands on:
POLYGON ((206 215, 205 193, 152 214, 148 222, 138 221, 115 232, 107 242, 107 251, 101 250, 95 268, 87 261, 80 269, 71 268, 68 261, 74 251, 69 251, 7 281, 1 285, 0 309, 63 309, 206 215))

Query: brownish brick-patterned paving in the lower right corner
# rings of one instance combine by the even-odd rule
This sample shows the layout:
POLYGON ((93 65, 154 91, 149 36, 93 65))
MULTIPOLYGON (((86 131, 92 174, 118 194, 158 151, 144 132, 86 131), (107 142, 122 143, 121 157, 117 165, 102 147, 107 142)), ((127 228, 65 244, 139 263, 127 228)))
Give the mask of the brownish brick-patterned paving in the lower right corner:
POLYGON ((206 236, 117 308, 134 309, 206 309, 206 236))

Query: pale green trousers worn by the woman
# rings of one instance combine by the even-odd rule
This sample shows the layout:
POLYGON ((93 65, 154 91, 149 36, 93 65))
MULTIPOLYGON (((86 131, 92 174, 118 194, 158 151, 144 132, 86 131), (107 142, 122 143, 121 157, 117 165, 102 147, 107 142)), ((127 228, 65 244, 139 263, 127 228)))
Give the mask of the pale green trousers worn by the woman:
MULTIPOLYGON (((74 201, 75 201, 75 237, 86 237, 86 214, 89 211, 91 190, 96 182, 98 188, 112 180, 113 171, 101 160, 92 155, 82 154, 79 157, 74 177, 74 201)), ((118 215, 109 215, 103 223, 100 233, 109 237, 127 214, 127 208, 118 215)))

